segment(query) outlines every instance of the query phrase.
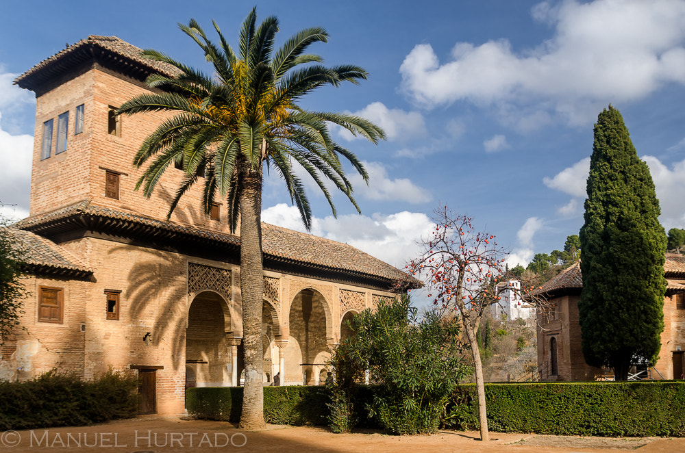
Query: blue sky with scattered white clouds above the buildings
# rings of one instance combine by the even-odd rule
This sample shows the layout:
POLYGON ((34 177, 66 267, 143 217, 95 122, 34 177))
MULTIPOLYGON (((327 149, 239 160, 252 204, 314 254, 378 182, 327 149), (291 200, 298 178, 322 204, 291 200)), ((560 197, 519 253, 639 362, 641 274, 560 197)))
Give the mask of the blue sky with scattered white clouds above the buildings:
MULTIPOLYGON (((119 36, 199 68, 176 23, 216 20, 236 43, 245 1, 0 0, 0 201, 28 207, 35 101, 17 75, 90 34, 119 36)), ((366 162, 358 216, 338 219, 310 191, 313 233, 395 266, 416 253, 429 216, 449 205, 474 218, 525 265, 561 249, 582 226, 593 124, 612 103, 651 169, 662 224, 685 228, 685 1, 260 1, 279 42, 306 27, 329 31, 312 51, 326 64, 369 71, 360 86, 324 88, 305 107, 362 114, 386 129, 373 146, 338 135, 366 162)), ((209 70, 208 68, 206 70, 209 70)), ((312 187, 313 188, 313 187, 312 187)), ((264 220, 302 229, 280 181, 264 185, 264 220)))

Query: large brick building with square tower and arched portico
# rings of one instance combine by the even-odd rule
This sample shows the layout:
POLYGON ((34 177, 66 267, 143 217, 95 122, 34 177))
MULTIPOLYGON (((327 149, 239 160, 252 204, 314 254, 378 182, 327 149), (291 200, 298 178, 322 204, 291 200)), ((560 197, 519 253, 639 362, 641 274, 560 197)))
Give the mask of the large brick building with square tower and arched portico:
MULTIPOLYGON (((140 376, 141 413, 167 414, 183 411, 186 387, 239 385, 240 235, 225 204, 206 215, 193 187, 166 220, 184 177, 174 168, 151 198, 134 190, 134 155, 168 116, 114 112, 150 92, 153 73, 176 69, 115 36, 88 36, 15 80, 36 93, 29 217, 8 229, 29 294, 0 379, 112 367, 140 376)), ((265 385, 276 373, 281 385, 323 383, 345 322, 397 296, 406 275, 322 237, 265 223, 262 235, 265 385)))

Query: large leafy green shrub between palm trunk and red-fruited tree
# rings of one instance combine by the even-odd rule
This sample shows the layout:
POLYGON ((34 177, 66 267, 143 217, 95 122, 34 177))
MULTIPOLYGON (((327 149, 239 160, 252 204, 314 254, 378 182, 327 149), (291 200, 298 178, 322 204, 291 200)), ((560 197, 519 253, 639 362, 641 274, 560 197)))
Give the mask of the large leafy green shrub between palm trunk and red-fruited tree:
POLYGON ((419 320, 403 295, 379 303, 376 311, 362 311, 351 328, 355 335, 334 352, 336 378, 341 377, 334 392, 349 389, 368 368, 377 384, 368 406, 371 417, 395 434, 436 432, 445 402, 466 376, 458 320, 445 320, 436 311, 419 320))

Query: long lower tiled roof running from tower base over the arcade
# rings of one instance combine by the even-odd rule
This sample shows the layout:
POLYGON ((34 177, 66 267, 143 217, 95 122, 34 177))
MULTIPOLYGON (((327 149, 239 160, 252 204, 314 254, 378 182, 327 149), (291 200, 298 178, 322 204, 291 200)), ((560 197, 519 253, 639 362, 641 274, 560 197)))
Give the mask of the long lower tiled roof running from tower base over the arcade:
MULTIPOLYGON (((88 200, 82 200, 73 205, 56 209, 38 216, 25 218, 14 224, 18 229, 38 229, 42 224, 66 219, 79 214, 101 216, 104 218, 123 220, 135 224, 142 224, 154 229, 185 233, 203 239, 224 244, 240 245, 240 237, 227 233, 219 233, 210 229, 201 229, 171 221, 162 221, 140 216, 137 213, 117 211, 108 207, 91 205, 88 200)), ((358 250, 348 244, 327 240, 323 237, 299 233, 282 227, 262 222, 262 248, 264 255, 304 263, 313 266, 324 266, 347 272, 355 272, 367 276, 397 281, 406 276, 397 268, 390 266, 371 255, 358 250)), ((421 285, 418 280, 412 280, 421 285)))

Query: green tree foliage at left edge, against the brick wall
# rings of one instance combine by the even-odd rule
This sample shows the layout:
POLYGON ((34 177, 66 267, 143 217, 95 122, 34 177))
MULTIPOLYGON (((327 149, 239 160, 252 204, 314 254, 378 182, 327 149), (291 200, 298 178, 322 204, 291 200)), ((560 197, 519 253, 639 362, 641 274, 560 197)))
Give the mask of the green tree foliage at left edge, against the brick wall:
POLYGON ((25 289, 21 283, 21 244, 0 221, 0 345, 18 326, 25 289))

